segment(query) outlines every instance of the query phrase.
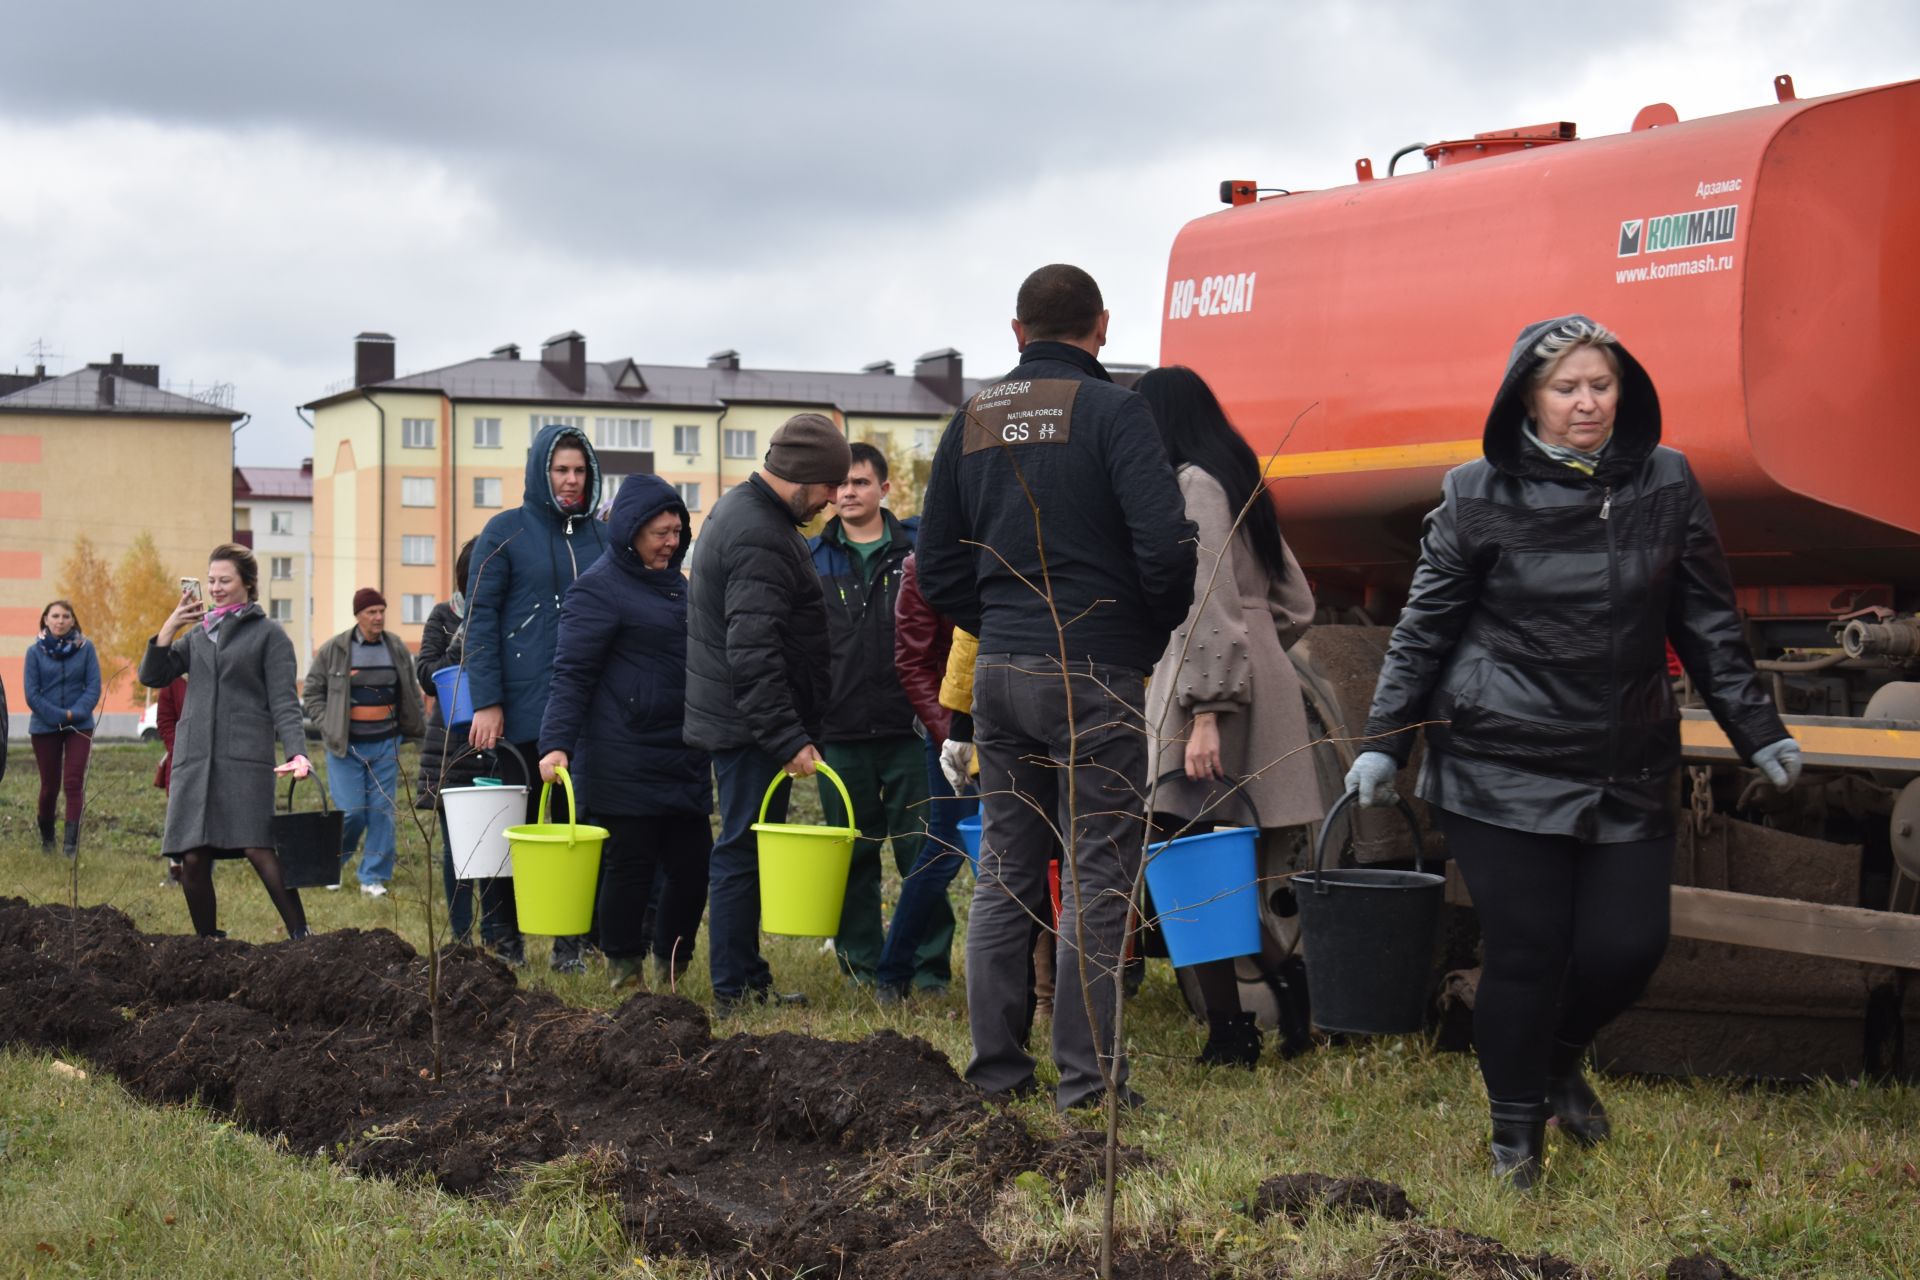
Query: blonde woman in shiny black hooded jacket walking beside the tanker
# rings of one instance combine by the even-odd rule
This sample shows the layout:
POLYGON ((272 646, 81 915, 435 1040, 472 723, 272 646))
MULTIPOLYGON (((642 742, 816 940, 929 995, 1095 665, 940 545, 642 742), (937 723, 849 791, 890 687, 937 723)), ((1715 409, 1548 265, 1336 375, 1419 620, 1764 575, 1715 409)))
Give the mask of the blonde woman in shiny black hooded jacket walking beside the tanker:
POLYGON ((1494 1173, 1530 1186, 1548 1117, 1609 1134, 1580 1075, 1667 950, 1680 720, 1667 645, 1782 791, 1799 747, 1761 687, 1720 537, 1653 380, 1601 324, 1526 326, 1486 457, 1427 516, 1348 787, 1394 800, 1427 722, 1434 806, 1484 936, 1475 1052, 1494 1173))

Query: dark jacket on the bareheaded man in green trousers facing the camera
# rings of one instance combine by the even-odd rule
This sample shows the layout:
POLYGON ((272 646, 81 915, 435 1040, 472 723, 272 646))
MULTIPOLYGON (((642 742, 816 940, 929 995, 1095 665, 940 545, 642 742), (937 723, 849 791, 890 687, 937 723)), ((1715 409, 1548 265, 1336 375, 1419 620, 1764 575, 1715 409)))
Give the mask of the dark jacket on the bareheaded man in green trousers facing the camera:
POLYGON ((900 520, 881 509, 889 541, 874 557, 874 576, 860 570, 847 545, 839 516, 828 520, 806 547, 820 574, 828 603, 828 637, 833 645, 833 697, 828 702, 822 741, 862 743, 914 733, 914 706, 893 666, 893 606, 900 597, 906 557, 914 553, 918 518, 900 520))

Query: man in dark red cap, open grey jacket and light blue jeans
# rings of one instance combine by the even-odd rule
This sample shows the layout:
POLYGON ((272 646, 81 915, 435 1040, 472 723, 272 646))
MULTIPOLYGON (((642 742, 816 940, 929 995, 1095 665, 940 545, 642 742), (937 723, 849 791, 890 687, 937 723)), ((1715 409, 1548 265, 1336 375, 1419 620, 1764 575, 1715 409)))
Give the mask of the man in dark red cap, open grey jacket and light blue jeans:
POLYGON ((321 645, 301 691, 307 737, 326 745, 326 789, 346 814, 340 860, 361 837, 361 892, 386 896, 394 879, 394 808, 399 741, 426 733, 413 654, 386 629, 386 599, 372 587, 353 593, 353 626, 321 645))

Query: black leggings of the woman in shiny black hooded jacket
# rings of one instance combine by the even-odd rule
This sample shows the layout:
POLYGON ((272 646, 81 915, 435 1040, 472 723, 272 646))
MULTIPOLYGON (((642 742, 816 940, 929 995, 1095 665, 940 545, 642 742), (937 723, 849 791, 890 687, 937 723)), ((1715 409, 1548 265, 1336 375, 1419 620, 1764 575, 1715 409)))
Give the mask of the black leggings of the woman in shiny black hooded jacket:
POLYGON ((1538 1103, 1661 963, 1674 837, 1588 844, 1436 812, 1480 915, 1473 1044, 1486 1094, 1538 1103))

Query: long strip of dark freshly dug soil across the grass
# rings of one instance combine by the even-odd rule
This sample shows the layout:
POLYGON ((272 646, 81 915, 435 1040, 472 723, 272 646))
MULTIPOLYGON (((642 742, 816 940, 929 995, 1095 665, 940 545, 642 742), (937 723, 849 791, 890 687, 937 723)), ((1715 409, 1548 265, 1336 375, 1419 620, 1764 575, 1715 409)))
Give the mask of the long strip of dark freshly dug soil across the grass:
MULTIPOLYGON (((84 1055, 140 1098, 198 1098, 296 1151, 465 1194, 576 1157, 636 1242, 722 1276, 1085 1274, 1012 1267, 975 1221, 1027 1171, 1081 1194, 1100 1140, 989 1117, 925 1040, 716 1040, 687 1000, 578 1009, 470 950, 445 954, 440 983, 436 1082, 428 963, 384 929, 255 946, 0 898, 0 1044, 84 1055), (935 1165, 937 1203, 908 1196, 935 1165)), ((1208 1268, 1137 1247, 1116 1272, 1208 1268)))

